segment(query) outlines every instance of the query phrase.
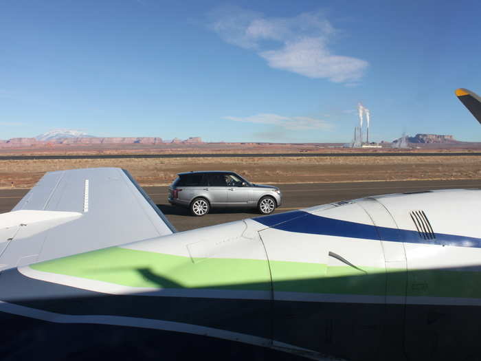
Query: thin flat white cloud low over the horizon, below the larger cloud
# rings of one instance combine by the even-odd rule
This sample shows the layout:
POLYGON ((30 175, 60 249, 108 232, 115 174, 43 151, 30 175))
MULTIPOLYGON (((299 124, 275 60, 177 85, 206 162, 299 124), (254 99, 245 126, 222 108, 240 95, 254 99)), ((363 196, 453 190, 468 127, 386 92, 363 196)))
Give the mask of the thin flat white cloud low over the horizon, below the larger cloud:
POLYGON ((309 129, 331 129, 331 124, 322 119, 316 119, 311 117, 286 117, 278 116, 277 114, 261 113, 256 116, 249 117, 232 117, 226 116, 224 119, 234 120, 236 122, 249 122, 257 124, 270 124, 289 129, 292 131, 302 131, 309 129))

